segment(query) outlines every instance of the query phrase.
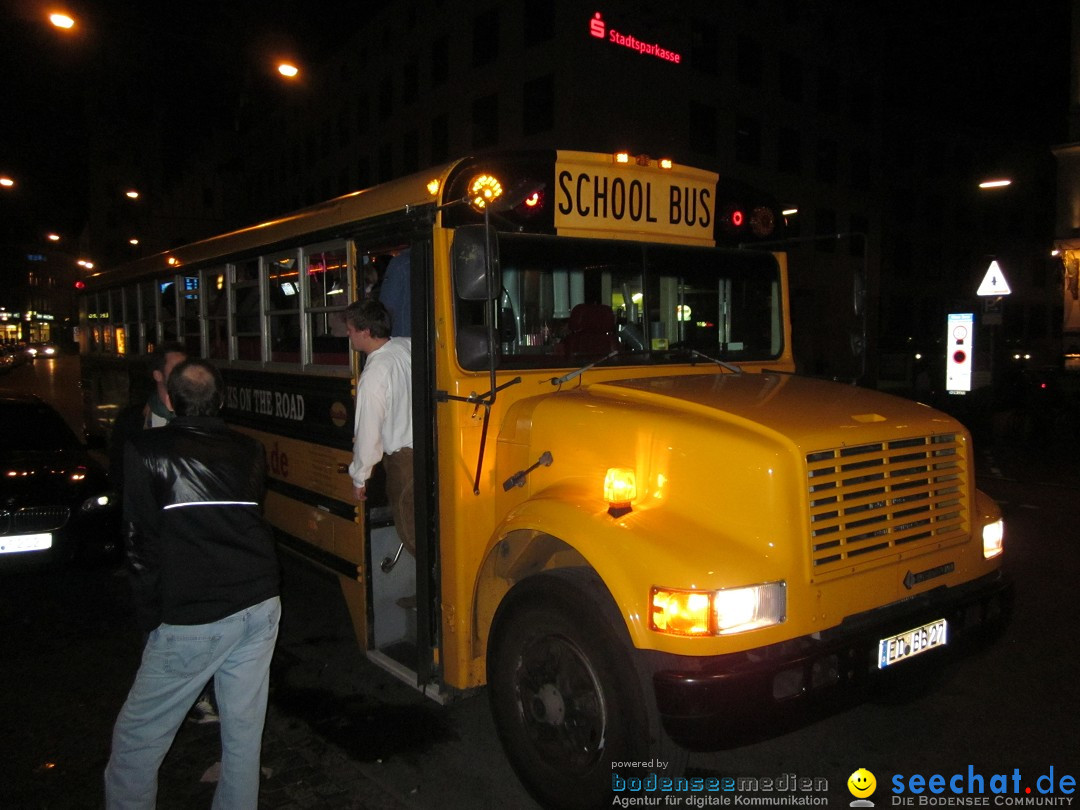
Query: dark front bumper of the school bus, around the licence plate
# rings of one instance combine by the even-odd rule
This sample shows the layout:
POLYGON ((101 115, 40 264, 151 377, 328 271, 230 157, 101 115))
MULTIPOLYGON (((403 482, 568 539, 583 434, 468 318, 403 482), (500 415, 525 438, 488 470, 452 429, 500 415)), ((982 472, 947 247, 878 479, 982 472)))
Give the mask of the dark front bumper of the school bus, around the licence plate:
POLYGON ((867 613, 813 636, 708 658, 647 653, 664 729, 687 747, 756 738, 850 704, 880 686, 903 688, 971 643, 993 637, 1011 611, 1012 589, 1000 571, 942 588, 867 613), (879 643, 945 619, 947 643, 886 667, 879 643), (808 717, 809 714, 809 717, 808 717))

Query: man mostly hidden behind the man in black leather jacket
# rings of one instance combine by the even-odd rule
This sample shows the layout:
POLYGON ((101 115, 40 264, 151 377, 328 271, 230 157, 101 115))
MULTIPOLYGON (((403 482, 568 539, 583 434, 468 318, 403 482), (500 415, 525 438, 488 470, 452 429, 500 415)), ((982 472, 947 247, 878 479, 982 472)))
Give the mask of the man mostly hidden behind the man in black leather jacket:
MULTIPOLYGON (((141 430, 163 428, 176 416, 168 407, 168 377, 180 363, 188 359, 188 350, 184 343, 166 341, 154 347, 150 354, 150 393, 145 402, 136 401, 129 405, 112 423, 111 444, 109 446, 109 477, 117 492, 123 492, 124 445, 141 430)), ((134 388, 140 389, 140 386, 134 388)), ((218 723, 217 708, 214 705, 214 681, 203 688, 188 719, 191 723, 218 723)))

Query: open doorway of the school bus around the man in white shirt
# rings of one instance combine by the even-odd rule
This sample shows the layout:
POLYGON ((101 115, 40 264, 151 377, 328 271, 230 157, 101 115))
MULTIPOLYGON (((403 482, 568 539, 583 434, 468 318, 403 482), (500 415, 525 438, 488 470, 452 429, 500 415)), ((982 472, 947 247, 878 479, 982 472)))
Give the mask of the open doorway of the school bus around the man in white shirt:
MULTIPOLYGON (((376 465, 363 504, 368 604, 368 650, 373 661, 399 678, 438 697, 432 605, 437 603, 435 523, 431 482, 433 378, 428 351, 431 243, 416 234, 403 240, 357 240, 357 298, 377 298, 391 315, 391 336, 413 343, 413 481, 416 556, 404 548, 387 495, 384 460, 376 465), (375 245, 378 245, 377 247, 375 245), (427 575, 422 573, 427 572, 427 575)), ((357 369, 362 373, 363 360, 357 369)), ((357 377, 359 382, 359 377, 357 377)), ((348 594, 347 594, 348 597, 348 594)))

